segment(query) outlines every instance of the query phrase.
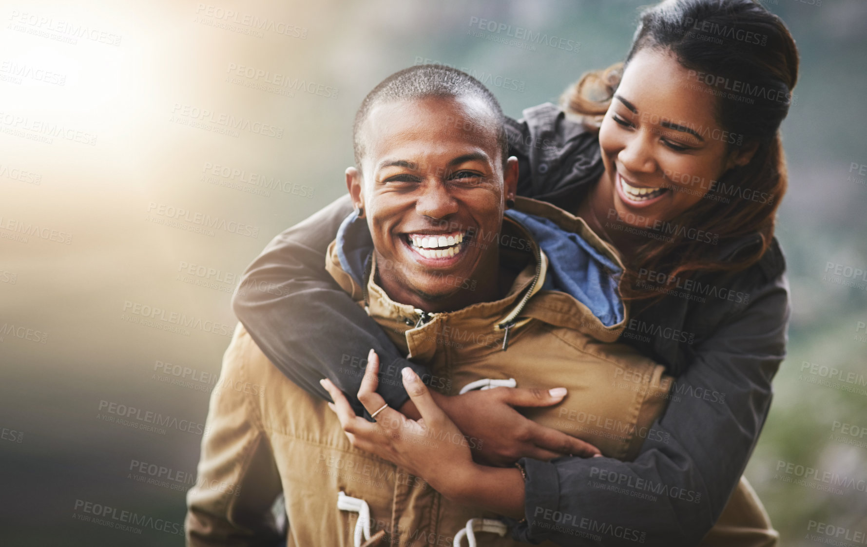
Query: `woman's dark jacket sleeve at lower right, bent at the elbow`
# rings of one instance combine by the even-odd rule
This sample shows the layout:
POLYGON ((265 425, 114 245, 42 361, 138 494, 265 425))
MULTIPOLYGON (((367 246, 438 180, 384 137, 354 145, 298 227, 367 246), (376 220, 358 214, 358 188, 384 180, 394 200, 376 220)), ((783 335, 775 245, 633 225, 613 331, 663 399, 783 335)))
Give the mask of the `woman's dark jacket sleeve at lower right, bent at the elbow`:
POLYGON ((515 538, 561 545, 695 545, 753 453, 785 356, 786 277, 695 348, 635 461, 522 459, 526 522, 515 538))

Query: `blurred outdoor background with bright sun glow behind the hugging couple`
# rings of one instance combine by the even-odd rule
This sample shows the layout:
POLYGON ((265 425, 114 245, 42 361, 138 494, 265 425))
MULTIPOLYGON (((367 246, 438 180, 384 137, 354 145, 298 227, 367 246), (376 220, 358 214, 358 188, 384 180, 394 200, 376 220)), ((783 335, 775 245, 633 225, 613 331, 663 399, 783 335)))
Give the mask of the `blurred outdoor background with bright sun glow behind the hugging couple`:
MULTIPOLYGON (((525 107, 557 101, 585 70, 621 61, 645 4, 3 3, 0 544, 182 544, 153 528, 134 533, 82 522, 76 508, 81 500, 183 522, 188 485, 141 482, 134 462, 194 473, 201 435, 140 431, 102 416, 114 402, 204 423, 203 375, 218 374, 229 338, 136 324, 135 304, 231 328, 231 290, 245 265, 271 237, 345 192, 352 117, 386 75, 418 62, 464 68, 489 77, 506 114, 519 117, 525 107), (275 24, 257 30, 244 16, 275 24), (468 33, 474 17, 580 45, 530 50, 492 42, 468 33), (273 93, 262 78, 233 75, 238 67, 304 84, 273 93), (46 71, 59 76, 47 81, 46 71), (274 129, 219 133, 213 120, 221 114, 274 129), (40 140, 44 124, 64 127, 62 135, 40 140), (207 173, 215 165, 290 184, 267 195, 250 192, 238 178, 207 173), (177 229, 160 215, 170 207, 250 228, 177 229), (22 225, 72 238, 64 244, 23 237, 15 229, 22 225), (187 273, 190 264, 220 273, 197 277, 187 273), (9 325, 25 335, 10 334, 9 325), (34 342, 20 327, 41 334, 34 342), (199 379, 163 381, 173 379, 166 372, 173 368, 160 362, 194 370, 199 379)), ((794 311, 789 356, 746 476, 782 544, 810 545, 812 521, 867 531, 867 434, 858 433, 867 427, 867 282, 846 273, 867 270, 867 185, 858 174, 867 164, 867 3, 766 6, 788 24, 801 54, 797 103, 782 127, 790 188, 778 231, 794 311), (862 376, 855 383, 829 379, 817 372, 821 366, 862 376), (831 473, 844 485, 824 492, 821 480, 787 482, 798 479, 781 472, 790 464, 817 469, 819 477, 831 473)))

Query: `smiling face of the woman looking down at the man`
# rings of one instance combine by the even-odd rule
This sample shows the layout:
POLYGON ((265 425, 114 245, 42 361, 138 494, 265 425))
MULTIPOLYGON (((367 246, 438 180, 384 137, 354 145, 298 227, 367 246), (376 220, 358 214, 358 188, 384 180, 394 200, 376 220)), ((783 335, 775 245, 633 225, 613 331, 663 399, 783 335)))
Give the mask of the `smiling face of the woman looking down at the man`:
POLYGON ((716 101, 728 100, 668 50, 633 56, 599 129, 599 221, 658 228, 704 198, 728 168, 748 161, 745 153, 727 153, 740 135, 723 131, 714 117, 716 101))

